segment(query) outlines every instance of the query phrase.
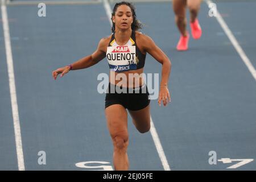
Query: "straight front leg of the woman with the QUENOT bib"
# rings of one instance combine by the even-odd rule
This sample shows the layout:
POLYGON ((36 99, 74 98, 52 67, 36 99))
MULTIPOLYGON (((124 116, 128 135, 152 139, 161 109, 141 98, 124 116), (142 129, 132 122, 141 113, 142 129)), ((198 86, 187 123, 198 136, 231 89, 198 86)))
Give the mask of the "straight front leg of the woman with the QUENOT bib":
POLYGON ((106 107, 105 115, 114 145, 114 168, 115 170, 128 170, 127 147, 129 134, 127 130, 127 111, 122 105, 114 104, 106 107))

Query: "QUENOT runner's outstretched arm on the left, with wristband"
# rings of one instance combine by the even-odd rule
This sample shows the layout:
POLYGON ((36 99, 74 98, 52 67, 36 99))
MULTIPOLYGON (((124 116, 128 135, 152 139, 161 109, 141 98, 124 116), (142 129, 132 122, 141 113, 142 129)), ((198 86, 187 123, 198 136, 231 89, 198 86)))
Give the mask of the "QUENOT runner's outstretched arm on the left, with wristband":
POLYGON ((59 74, 60 77, 63 77, 66 73, 68 73, 71 70, 76 69, 84 69, 92 67, 94 64, 97 64, 99 61, 104 59, 106 56, 106 47, 108 46, 108 38, 103 38, 98 43, 98 47, 95 52, 92 53, 92 55, 85 56, 82 59, 76 61, 75 63, 72 63, 71 66, 65 66, 63 68, 56 69, 52 72, 52 77, 56 80, 57 76, 59 74))

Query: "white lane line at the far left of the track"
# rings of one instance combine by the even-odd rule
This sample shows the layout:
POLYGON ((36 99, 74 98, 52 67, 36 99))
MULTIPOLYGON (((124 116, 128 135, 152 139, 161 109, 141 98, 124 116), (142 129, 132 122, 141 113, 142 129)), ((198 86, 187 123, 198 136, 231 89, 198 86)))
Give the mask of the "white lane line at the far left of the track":
POLYGON ((18 169, 19 171, 24 171, 24 157, 22 150, 22 137, 20 134, 20 124, 19 124, 19 111, 16 97, 16 87, 15 87, 15 77, 14 77, 14 68, 13 68, 13 53, 11 52, 11 40, 9 32, 9 23, 5 1, 1 0, 1 10, 2 10, 2 22, 3 22, 3 35, 5 37, 5 51, 6 51, 6 60, 7 60, 7 69, 9 77, 9 87, 10 87, 10 96, 11 96, 11 109, 13 112, 13 123, 14 123, 14 134, 15 134, 15 143, 16 143, 16 154, 18 158, 18 169))

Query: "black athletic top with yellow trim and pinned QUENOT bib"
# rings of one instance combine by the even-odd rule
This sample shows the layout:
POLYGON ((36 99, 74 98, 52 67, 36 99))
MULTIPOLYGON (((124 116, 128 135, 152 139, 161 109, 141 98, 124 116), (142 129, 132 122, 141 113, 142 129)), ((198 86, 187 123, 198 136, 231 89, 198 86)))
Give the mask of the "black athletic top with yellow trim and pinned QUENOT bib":
POLYGON ((125 72, 144 67, 146 55, 144 55, 136 44, 135 31, 132 31, 129 41, 124 46, 115 42, 115 33, 109 42, 106 57, 111 71, 125 72))

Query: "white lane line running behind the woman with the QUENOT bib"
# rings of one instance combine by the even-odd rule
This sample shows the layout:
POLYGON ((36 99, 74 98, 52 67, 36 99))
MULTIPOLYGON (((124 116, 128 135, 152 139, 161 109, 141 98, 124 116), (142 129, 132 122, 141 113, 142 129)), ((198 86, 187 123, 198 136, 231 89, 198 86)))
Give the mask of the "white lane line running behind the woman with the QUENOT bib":
MULTIPOLYGON (((111 13, 112 10, 110 8, 109 2, 107 0, 102 0, 102 1, 104 3, 106 14, 109 17, 109 22, 112 25, 112 22, 110 20, 110 17, 112 16, 112 13, 111 13)), ((155 147, 156 147, 156 150, 158 151, 158 155, 159 155, 159 158, 162 162, 163 168, 164 168, 165 171, 171 171, 171 168, 170 168, 170 166, 168 164, 168 161, 166 159, 166 155, 164 154, 162 144, 161 144, 160 139, 158 137, 158 133, 156 132, 155 125, 154 125, 154 122, 153 122, 151 116, 150 116, 150 123, 151 123, 150 134, 151 134, 151 136, 154 140, 155 147)))

